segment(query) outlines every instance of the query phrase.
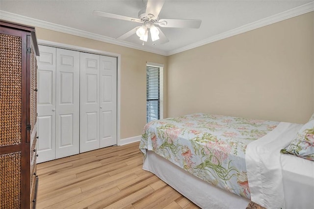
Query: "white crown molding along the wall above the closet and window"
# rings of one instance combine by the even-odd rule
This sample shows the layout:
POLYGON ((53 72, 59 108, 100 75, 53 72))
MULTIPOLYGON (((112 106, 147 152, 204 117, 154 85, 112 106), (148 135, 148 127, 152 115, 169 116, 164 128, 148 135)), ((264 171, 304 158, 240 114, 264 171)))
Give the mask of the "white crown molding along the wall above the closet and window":
POLYGON ((167 55, 167 52, 165 52, 165 51, 156 50, 156 49, 152 49, 152 48, 145 47, 145 46, 138 46, 138 45, 132 44, 130 42, 120 41, 120 40, 116 40, 114 38, 110 38, 107 36, 98 35, 95 33, 79 30, 79 29, 72 28, 72 27, 61 26, 61 25, 49 23, 46 21, 37 20, 37 19, 26 17, 26 16, 2 11, 2 10, 0 10, 0 19, 15 22, 15 23, 20 23, 20 24, 24 24, 24 25, 30 25, 30 26, 50 29, 50 30, 54 30, 54 31, 62 32, 62 33, 67 33, 67 34, 71 34, 71 35, 76 35, 76 36, 80 36, 80 37, 84 37, 84 38, 89 38, 89 39, 93 39, 93 40, 97 40, 97 41, 106 42, 109 44, 115 44, 115 45, 119 45, 122 47, 128 47, 128 48, 135 49, 135 50, 152 52, 152 53, 157 53, 160 55, 167 55))

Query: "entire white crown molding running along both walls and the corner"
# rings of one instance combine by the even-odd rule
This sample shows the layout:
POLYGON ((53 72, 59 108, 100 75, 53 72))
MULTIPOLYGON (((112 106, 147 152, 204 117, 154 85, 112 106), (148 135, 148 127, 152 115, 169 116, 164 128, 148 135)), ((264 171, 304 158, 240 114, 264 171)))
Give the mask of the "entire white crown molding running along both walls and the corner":
POLYGON ((6 11, 2 11, 0 10, 0 19, 2 20, 6 20, 6 21, 11 21, 11 22, 16 22, 16 23, 20 23, 20 24, 25 24, 25 25, 30 25, 30 26, 35 26, 35 27, 42 27, 45 29, 50 29, 50 30, 55 30, 58 32, 63 32, 63 33, 68 33, 71 35, 76 35, 76 36, 80 36, 80 37, 84 37, 84 38, 89 38, 89 39, 93 39, 93 40, 97 40, 97 41, 102 41, 102 42, 106 42, 109 44, 115 44, 118 46, 122 46, 122 47, 128 47, 131 49, 136 49, 136 50, 141 50, 141 51, 145 51, 145 52, 152 52, 152 53, 156 53, 156 54, 160 54, 160 55, 165 55, 165 56, 169 56, 172 54, 176 54, 179 52, 184 52, 186 50, 190 50, 196 47, 200 47, 215 41, 219 41, 231 36, 235 36, 238 35, 240 33, 244 33, 250 30, 254 30, 257 29, 259 27, 262 26, 267 26, 273 23, 277 23, 283 20, 287 20, 289 18, 292 17, 296 17, 298 15, 302 15, 308 12, 312 12, 314 11, 314 1, 311 1, 309 3, 303 4, 301 6, 289 9, 287 11, 281 12, 279 14, 264 18, 262 20, 256 21, 254 23, 250 23, 244 26, 240 26, 237 27, 235 29, 211 36, 209 38, 206 38, 204 40, 195 42, 193 44, 189 44, 186 45, 184 47, 175 49, 175 50, 171 50, 171 51, 162 51, 162 50, 157 50, 157 49, 152 49, 149 47, 143 47, 143 46, 138 46, 136 44, 132 44, 126 41, 121 41, 121 40, 116 40, 110 37, 106 37, 103 35, 98 35, 95 33, 91 33, 91 32, 87 32, 87 31, 83 31, 83 30, 78 30, 72 27, 67 27, 67 26, 61 26, 61 25, 57 25, 57 24, 53 24, 53 23, 49 23, 46 21, 41 21, 41 20, 37 20, 37 19, 33 19, 33 18, 29 18, 29 17, 25 17, 22 15, 17 15, 14 13, 10 13, 10 12, 6 12, 6 11))

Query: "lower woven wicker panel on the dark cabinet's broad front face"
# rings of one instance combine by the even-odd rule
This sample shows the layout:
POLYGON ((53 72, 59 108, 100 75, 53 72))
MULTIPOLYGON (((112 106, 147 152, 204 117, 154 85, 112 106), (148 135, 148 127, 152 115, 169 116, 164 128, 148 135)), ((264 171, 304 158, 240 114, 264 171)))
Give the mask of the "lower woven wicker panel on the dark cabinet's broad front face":
POLYGON ((21 207, 21 152, 0 155, 0 208, 21 207))

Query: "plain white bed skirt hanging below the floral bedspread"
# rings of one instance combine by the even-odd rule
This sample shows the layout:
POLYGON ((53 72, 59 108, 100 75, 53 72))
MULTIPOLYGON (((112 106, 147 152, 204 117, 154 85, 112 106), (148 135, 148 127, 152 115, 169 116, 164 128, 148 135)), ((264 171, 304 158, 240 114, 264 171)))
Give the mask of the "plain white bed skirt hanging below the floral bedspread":
POLYGON ((245 209, 249 199, 204 182, 172 162, 147 151, 143 169, 150 171, 202 209, 245 209))

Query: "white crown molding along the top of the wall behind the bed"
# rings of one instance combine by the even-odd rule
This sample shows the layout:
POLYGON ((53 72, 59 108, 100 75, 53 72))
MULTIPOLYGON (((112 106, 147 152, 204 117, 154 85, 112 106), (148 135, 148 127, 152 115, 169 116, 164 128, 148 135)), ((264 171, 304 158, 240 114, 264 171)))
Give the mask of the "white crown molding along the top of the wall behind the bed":
POLYGON ((314 1, 311 1, 311 2, 303 4, 301 6, 289 9, 287 11, 278 13, 276 15, 264 18, 262 20, 254 22, 254 23, 250 23, 250 24, 247 24, 247 25, 244 25, 244 26, 240 26, 240 27, 237 27, 235 29, 232 29, 232 30, 229 30, 229 31, 226 31, 226 32, 214 35, 214 36, 211 36, 211 37, 209 37, 207 39, 195 42, 193 44, 189 44, 189 45, 186 45, 184 47, 181 47, 181 48, 178 48, 178 49, 175 49, 175 50, 171 50, 171 51, 169 51, 167 53, 167 55, 169 56, 169 55, 176 54, 176 53, 179 53, 179 52, 184 52, 186 50, 190 50, 190 49, 193 49, 193 48, 196 48, 196 47, 200 47, 200 46, 203 46, 203 45, 215 42, 215 41, 219 41, 219 40, 222 40, 222 39, 225 39, 225 38, 229 38, 231 36, 235 36, 235 35, 238 35, 240 33, 244 33, 244 32, 250 31, 250 30, 254 30, 254 29, 257 29, 257 28, 262 27, 262 26, 268 26, 268 25, 271 25, 273 23, 277 23, 277 22, 280 22, 280 21, 283 21, 283 20, 287 20, 289 18, 296 17, 296 16, 299 16, 299 15, 302 15, 302 14, 305 14, 305 13, 308 13, 308 12, 312 12, 312 11, 314 11, 314 1))

